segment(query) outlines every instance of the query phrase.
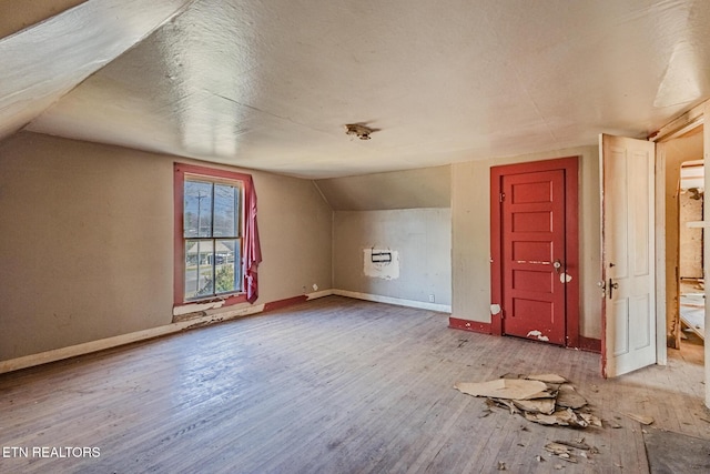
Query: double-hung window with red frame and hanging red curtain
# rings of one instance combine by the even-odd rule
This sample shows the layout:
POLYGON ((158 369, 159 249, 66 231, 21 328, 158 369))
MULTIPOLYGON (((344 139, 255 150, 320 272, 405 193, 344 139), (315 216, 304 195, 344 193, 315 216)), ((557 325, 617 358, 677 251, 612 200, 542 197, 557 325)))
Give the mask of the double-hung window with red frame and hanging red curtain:
POLYGON ((256 300, 256 195, 248 174, 175 164, 175 304, 256 300))

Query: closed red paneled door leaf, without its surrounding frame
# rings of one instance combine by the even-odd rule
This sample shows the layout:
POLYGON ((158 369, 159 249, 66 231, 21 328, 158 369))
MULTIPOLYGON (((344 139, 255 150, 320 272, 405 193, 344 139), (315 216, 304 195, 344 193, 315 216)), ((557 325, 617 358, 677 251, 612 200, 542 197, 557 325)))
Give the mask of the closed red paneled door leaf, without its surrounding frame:
POLYGON ((503 177, 504 334, 565 344, 565 171, 503 177))

